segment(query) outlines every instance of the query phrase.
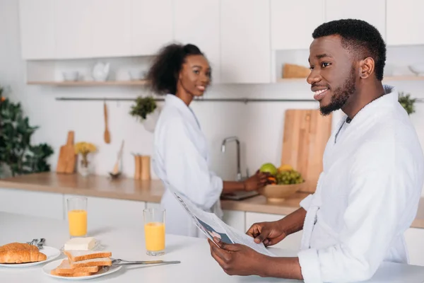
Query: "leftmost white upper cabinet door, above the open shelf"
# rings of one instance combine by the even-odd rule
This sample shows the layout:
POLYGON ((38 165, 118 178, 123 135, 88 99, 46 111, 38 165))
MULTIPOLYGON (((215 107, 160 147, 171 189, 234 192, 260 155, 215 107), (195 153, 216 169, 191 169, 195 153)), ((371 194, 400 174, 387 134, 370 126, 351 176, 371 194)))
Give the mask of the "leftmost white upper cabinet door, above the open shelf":
POLYGON ((23 59, 54 58, 54 0, 20 0, 19 21, 23 59))

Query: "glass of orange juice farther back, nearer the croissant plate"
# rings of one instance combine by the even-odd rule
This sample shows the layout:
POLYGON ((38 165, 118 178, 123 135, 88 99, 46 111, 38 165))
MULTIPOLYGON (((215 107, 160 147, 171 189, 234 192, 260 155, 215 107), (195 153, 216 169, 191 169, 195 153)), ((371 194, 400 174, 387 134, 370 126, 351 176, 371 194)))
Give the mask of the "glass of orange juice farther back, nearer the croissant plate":
POLYGON ((68 206, 69 236, 87 236, 87 197, 70 197, 68 206))

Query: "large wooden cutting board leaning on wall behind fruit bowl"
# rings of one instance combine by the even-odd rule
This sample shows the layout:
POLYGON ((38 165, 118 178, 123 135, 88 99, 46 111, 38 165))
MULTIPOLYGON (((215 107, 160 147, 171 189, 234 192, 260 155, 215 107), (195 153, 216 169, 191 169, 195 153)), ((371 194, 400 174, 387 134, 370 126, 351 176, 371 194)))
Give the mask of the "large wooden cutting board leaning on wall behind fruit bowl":
POLYGON ((305 179, 304 192, 314 192, 322 156, 331 135, 332 115, 322 116, 319 110, 290 109, 285 111, 281 164, 289 164, 305 179))

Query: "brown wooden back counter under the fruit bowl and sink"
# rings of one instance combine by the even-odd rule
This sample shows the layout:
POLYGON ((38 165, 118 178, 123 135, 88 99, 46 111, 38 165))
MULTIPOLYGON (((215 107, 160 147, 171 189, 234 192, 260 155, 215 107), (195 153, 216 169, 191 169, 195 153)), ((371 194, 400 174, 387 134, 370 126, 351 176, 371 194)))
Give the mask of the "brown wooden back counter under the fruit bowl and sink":
MULTIPOLYGON (((111 180, 102 175, 83 177, 79 174, 57 173, 37 173, 0 179, 0 187, 143 202, 160 202, 164 192, 163 183, 160 180, 143 181, 132 178, 111 180)), ((267 203, 263 196, 239 201, 221 200, 221 207, 243 212, 287 215, 298 209, 300 201, 306 196, 307 193, 296 193, 281 204, 267 203)), ((411 227, 424 229, 424 197, 420 200, 418 213, 411 227)))

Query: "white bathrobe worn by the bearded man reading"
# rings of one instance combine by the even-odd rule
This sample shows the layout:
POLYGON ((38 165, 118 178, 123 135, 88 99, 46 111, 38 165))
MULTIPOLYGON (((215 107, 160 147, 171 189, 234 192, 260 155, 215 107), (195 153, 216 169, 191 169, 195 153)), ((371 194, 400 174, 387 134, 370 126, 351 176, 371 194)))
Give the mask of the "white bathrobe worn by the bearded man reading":
POLYGON ((324 151, 317 190, 307 210, 298 253, 305 282, 358 282, 382 261, 408 262, 404 231, 423 189, 424 158, 398 93, 346 115, 324 151))

